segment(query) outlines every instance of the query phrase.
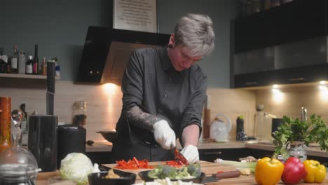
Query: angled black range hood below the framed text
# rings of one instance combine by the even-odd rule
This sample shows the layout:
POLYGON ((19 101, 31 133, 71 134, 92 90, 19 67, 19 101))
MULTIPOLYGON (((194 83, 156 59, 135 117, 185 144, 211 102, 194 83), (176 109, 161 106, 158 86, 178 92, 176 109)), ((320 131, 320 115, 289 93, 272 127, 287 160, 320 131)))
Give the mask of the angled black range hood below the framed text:
POLYGON ((121 84, 130 54, 137 48, 165 46, 169 34, 88 27, 78 81, 121 84))

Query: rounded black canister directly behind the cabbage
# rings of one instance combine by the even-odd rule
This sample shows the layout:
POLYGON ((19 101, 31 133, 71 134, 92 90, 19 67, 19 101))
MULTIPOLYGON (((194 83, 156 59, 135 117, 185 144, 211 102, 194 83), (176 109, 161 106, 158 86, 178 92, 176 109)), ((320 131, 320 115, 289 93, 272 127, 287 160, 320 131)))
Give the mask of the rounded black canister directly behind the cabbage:
POLYGON ((57 168, 60 161, 69 153, 86 153, 86 129, 79 125, 60 125, 58 132, 57 168))

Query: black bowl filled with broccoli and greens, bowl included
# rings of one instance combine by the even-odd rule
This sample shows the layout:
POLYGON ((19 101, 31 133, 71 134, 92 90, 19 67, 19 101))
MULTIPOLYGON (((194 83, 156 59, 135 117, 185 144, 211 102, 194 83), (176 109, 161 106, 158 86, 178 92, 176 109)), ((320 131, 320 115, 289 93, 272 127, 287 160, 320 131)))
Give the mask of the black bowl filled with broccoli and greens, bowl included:
POLYGON ((201 183, 206 175, 200 171, 199 164, 191 164, 182 169, 177 169, 168 165, 158 165, 158 167, 153 170, 139 172, 139 177, 144 181, 153 181, 155 179, 165 179, 165 177, 168 177, 172 181, 181 180, 201 183))

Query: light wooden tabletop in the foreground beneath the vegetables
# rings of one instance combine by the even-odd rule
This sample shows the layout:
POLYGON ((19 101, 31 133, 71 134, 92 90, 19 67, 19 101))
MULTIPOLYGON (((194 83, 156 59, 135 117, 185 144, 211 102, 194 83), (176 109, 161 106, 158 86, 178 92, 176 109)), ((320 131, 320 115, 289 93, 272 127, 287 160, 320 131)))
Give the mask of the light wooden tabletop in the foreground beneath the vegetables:
MULTIPOLYGON (((161 164, 163 162, 150 162, 149 165, 153 165, 154 167, 158 164, 161 164)), ((104 166, 107 167, 114 167, 116 164, 105 164, 104 166)), ((218 172, 218 171, 233 171, 235 170, 235 167, 233 166, 224 166, 224 165, 219 165, 218 163, 210 163, 207 161, 200 161, 200 166, 202 169, 202 172, 206 174, 206 176, 212 176, 212 174, 218 172)), ((139 169, 139 170, 123 170, 125 172, 133 172, 135 174, 142 172, 144 170, 149 170, 149 169, 139 169)), ((40 173, 38 175, 38 180, 36 181, 37 185, 46 185, 47 184, 47 179, 53 176, 58 175, 58 172, 48 172, 48 173, 40 173)), ((137 179, 135 183, 141 182, 142 180, 140 179, 139 175, 137 175, 137 179)), ((257 182, 255 181, 254 175, 240 175, 240 177, 235 177, 235 178, 229 178, 229 179, 220 179, 219 181, 207 183, 208 185, 224 185, 224 184, 237 184, 237 185, 256 185, 257 182)), ((280 181, 278 184, 284 184, 282 181, 280 181)), ((306 185, 313 185, 313 183, 305 183, 301 181, 299 184, 306 184, 306 185)), ((320 185, 328 184, 328 173, 326 174, 326 179, 324 182, 322 182, 320 185)))

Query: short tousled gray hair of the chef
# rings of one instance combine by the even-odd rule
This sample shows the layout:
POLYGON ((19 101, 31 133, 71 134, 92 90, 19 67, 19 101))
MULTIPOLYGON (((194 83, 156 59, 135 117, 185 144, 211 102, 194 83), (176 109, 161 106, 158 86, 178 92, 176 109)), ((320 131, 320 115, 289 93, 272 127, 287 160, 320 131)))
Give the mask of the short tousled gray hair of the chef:
POLYGON ((173 32, 175 45, 189 48, 192 56, 210 55, 214 49, 213 23, 207 15, 185 15, 179 19, 173 32))

